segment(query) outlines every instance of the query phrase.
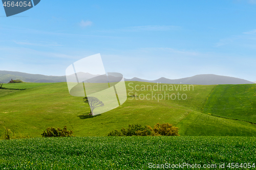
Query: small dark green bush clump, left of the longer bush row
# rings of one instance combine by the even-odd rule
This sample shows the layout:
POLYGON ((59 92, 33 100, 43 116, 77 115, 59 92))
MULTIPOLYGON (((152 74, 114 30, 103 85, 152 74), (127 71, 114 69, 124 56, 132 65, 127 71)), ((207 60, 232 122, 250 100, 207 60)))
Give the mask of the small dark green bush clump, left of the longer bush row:
POLYGON ((53 127, 47 128, 46 131, 42 132, 41 135, 42 137, 69 137, 69 136, 74 136, 72 134, 73 134, 73 131, 72 130, 68 131, 67 127, 65 126, 63 130, 60 128, 56 129, 53 127))

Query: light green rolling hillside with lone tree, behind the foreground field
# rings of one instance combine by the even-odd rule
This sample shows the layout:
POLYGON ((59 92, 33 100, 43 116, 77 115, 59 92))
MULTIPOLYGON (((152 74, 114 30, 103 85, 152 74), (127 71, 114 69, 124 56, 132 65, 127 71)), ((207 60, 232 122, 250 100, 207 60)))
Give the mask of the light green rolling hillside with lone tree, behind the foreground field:
MULTIPOLYGON (((256 126, 252 124, 216 117, 205 112, 207 102, 210 101, 207 100, 209 94, 211 93, 210 97, 214 96, 216 89, 229 85, 194 85, 194 90, 192 86, 189 90, 188 85, 161 84, 160 90, 160 85, 158 84, 157 89, 156 83, 125 84, 126 102, 91 118, 88 116, 89 106, 83 103, 82 97, 69 94, 67 83, 4 84, 7 88, 15 86, 27 89, 0 95, 0 133, 3 134, 4 127, 7 127, 19 136, 40 137, 47 127, 67 126, 76 136, 106 136, 110 131, 126 128, 129 124, 153 127, 156 123, 170 123, 180 128, 180 135, 256 135, 256 126), (166 85, 167 88, 162 85, 166 85), (153 88, 157 90, 154 91, 153 88), (138 95, 137 98, 130 96, 135 93, 138 95), (142 100, 146 95, 150 100, 142 100), (182 100, 181 97, 186 97, 186 100, 182 100), (203 107, 205 113, 201 113, 203 107)), ((1 93, 3 91, 5 90, 2 89, 1 93)), ((247 99, 246 96, 241 98, 247 99)))

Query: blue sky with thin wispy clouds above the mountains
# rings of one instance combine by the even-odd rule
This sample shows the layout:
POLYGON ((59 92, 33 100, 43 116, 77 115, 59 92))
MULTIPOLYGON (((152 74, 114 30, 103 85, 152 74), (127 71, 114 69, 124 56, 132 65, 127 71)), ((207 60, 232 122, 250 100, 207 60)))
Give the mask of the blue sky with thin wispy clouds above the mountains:
POLYGON ((63 76, 97 53, 125 78, 256 81, 256 0, 41 0, 10 17, 0 7, 0 70, 63 76))

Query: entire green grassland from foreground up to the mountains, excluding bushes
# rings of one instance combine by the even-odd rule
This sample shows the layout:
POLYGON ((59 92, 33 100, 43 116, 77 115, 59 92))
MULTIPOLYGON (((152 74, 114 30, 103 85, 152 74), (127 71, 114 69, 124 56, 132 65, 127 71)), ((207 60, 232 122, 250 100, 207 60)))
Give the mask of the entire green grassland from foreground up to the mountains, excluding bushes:
POLYGON ((0 135, 3 139, 5 127, 13 132, 13 140, 0 140, 0 168, 152 169, 149 163, 197 163, 216 164, 205 169, 218 169, 225 163, 222 169, 232 169, 228 163, 234 162, 245 169, 244 163, 255 165, 256 85, 194 85, 193 90, 166 85, 167 89, 154 90, 143 87, 156 83, 125 84, 126 102, 93 117, 88 116, 90 108, 82 97, 69 94, 67 83, 4 84, 25 90, 0 89, 0 135), (177 126, 181 136, 107 136, 129 124, 157 123, 177 126), (77 137, 41 137, 47 127, 64 126, 77 137))

